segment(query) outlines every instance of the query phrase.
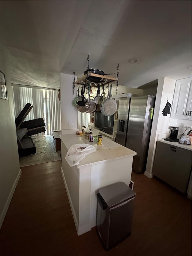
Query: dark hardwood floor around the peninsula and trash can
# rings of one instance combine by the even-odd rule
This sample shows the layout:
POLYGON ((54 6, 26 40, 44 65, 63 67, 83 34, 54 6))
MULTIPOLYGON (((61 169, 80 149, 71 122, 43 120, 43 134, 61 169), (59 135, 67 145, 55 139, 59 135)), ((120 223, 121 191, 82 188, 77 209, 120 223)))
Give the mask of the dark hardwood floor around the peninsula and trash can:
POLYGON ((132 174, 130 237, 105 251, 95 228, 77 236, 60 168, 60 161, 22 167, 0 230, 1 256, 191 255, 191 201, 143 174, 132 174))

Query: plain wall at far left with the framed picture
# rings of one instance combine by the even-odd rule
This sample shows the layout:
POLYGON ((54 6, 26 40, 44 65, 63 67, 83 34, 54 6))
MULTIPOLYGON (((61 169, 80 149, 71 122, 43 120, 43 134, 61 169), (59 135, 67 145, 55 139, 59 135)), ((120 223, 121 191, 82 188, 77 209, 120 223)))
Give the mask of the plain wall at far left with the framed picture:
POLYGON ((0 227, 7 212, 19 175, 13 92, 8 53, 0 45, 0 70, 5 74, 8 100, 0 99, 0 227))

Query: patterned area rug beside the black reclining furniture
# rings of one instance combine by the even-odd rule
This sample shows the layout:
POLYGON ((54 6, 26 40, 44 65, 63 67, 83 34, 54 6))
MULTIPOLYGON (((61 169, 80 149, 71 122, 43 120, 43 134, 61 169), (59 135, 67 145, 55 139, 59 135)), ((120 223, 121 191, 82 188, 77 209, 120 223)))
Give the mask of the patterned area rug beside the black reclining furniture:
POLYGON ((32 139, 36 147, 36 154, 20 157, 20 167, 61 160, 61 151, 55 151, 52 135, 32 136, 32 139))

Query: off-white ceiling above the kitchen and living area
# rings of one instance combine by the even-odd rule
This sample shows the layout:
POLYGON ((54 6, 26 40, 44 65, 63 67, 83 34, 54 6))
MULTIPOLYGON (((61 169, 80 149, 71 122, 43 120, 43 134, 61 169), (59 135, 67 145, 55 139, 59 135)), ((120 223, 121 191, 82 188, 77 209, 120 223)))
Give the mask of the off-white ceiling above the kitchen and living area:
POLYGON ((116 73, 139 87, 191 76, 191 1, 0 1, 12 83, 59 87, 59 73, 116 73), (130 59, 139 59, 131 64, 130 59))

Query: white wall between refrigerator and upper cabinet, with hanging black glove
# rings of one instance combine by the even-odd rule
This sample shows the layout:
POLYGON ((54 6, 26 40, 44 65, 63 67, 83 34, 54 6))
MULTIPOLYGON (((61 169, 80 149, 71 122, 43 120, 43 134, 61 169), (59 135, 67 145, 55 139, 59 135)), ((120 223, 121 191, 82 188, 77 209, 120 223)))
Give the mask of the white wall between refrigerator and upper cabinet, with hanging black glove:
POLYGON ((170 119, 170 116, 163 116, 162 110, 164 109, 167 99, 172 104, 173 94, 175 89, 176 80, 168 77, 161 77, 158 80, 157 95, 155 101, 155 110, 153 116, 151 137, 149 142, 149 152, 146 164, 145 175, 149 178, 152 177, 152 167, 155 156, 155 147, 158 134, 169 133, 169 126, 174 125, 175 120, 170 119))

